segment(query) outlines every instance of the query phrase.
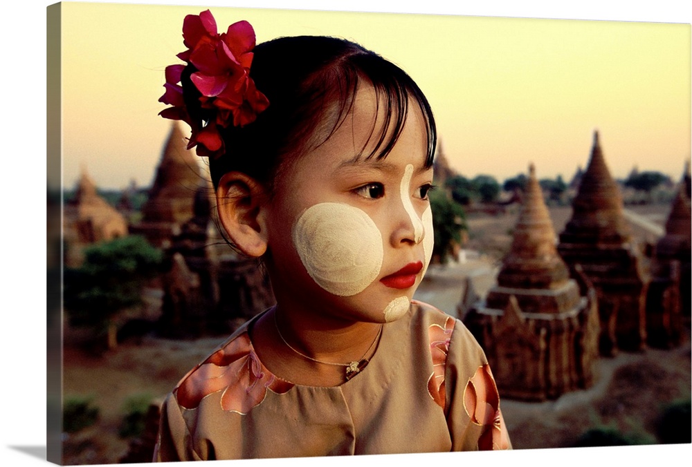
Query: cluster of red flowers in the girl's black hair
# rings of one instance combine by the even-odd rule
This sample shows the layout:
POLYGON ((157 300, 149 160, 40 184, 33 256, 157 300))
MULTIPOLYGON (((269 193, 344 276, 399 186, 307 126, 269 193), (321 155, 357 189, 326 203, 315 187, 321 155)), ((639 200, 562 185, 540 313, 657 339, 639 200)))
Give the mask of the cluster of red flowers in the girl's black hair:
POLYGON ((183 100, 183 88, 179 85, 183 65, 166 68, 166 91, 159 102, 173 107, 164 109, 160 115, 190 125, 192 136, 188 149, 197 146, 198 155, 218 157, 226 150, 219 126, 226 128, 231 122, 235 126, 245 126, 254 122, 257 114, 269 105, 250 77, 255 31, 247 21, 238 21, 219 35, 214 17, 206 10, 199 16, 185 17, 183 44, 188 50, 179 53, 178 57, 197 68, 190 80, 201 93, 201 108, 212 111, 215 116, 204 125, 190 116, 183 100))

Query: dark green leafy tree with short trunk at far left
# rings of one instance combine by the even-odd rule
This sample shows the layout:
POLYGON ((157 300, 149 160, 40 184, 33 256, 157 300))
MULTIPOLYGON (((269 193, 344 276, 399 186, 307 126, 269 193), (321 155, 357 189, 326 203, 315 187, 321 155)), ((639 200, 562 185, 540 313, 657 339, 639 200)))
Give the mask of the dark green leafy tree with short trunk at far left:
POLYGON ((80 267, 64 273, 64 306, 75 326, 93 327, 117 345, 119 312, 142 303, 145 280, 159 271, 163 254, 141 236, 126 236, 84 249, 80 267))

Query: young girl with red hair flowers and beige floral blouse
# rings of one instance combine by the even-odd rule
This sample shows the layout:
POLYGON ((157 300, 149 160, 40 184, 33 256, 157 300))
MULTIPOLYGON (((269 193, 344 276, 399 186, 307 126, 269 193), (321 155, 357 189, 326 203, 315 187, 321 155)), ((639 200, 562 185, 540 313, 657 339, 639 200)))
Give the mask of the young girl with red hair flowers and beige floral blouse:
POLYGON ((155 460, 509 448, 481 348, 412 300, 435 153, 415 82, 342 39, 219 35, 208 11, 183 38, 162 115, 190 124, 221 224, 277 303, 169 394, 155 460))

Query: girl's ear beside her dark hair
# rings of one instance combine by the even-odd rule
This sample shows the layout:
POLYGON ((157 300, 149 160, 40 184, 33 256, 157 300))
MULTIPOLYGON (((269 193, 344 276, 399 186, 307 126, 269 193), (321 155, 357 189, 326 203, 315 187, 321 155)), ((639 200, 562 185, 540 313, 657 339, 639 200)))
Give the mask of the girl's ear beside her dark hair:
POLYGON ((245 173, 228 172, 219 180, 219 220, 233 244, 248 256, 259 257, 266 251, 265 200, 262 184, 245 173))

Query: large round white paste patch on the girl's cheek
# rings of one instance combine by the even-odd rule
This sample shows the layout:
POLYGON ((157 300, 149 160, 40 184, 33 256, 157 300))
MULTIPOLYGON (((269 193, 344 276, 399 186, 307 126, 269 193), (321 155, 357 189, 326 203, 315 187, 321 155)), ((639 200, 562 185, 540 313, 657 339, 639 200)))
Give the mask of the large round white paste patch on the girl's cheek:
POLYGON ((338 296, 363 292, 384 258, 379 229, 365 211, 348 204, 306 209, 293 227, 293 245, 311 278, 338 296))

